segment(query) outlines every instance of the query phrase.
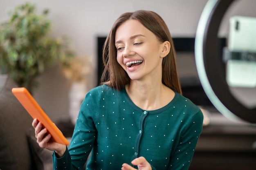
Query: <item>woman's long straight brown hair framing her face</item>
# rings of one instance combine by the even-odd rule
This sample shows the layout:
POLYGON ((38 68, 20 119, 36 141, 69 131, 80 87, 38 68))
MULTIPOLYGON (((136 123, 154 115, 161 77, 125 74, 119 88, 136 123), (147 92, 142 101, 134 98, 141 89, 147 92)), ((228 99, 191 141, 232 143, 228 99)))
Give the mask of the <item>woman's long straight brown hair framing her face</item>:
POLYGON ((127 20, 138 20, 149 31, 155 34, 160 42, 168 41, 171 49, 162 62, 162 83, 177 93, 182 94, 180 81, 177 75, 176 53, 170 31, 157 13, 153 11, 139 10, 122 14, 112 26, 103 46, 104 70, 101 77, 102 84, 121 90, 130 83, 130 77, 117 62, 117 49, 115 47, 115 33, 117 28, 127 20))

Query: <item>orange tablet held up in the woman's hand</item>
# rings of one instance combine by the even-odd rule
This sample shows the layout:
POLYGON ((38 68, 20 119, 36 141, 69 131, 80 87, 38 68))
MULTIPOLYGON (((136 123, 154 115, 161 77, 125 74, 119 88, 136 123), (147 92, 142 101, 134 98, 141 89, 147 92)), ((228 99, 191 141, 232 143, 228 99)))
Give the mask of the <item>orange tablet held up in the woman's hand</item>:
POLYGON ((52 140, 59 143, 68 145, 69 142, 61 133, 61 131, 56 127, 52 120, 45 114, 43 109, 39 106, 36 100, 31 96, 29 91, 24 87, 12 88, 12 93, 16 96, 18 101, 27 110, 27 112, 33 117, 33 119, 38 119, 43 126, 52 135, 52 140))

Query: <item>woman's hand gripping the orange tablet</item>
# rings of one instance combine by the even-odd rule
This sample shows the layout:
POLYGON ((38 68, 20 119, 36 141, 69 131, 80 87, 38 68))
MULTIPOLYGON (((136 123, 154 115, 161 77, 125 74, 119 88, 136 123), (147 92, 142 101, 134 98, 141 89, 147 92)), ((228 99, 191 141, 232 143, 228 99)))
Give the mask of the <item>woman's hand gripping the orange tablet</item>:
POLYGON ((34 119, 32 126, 35 128, 36 142, 41 148, 46 148, 56 152, 56 156, 62 157, 66 151, 67 146, 63 144, 58 144, 51 140, 51 134, 43 126, 41 122, 34 119))

